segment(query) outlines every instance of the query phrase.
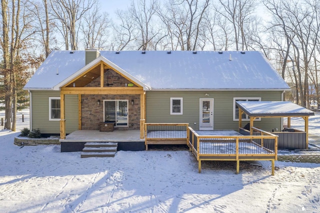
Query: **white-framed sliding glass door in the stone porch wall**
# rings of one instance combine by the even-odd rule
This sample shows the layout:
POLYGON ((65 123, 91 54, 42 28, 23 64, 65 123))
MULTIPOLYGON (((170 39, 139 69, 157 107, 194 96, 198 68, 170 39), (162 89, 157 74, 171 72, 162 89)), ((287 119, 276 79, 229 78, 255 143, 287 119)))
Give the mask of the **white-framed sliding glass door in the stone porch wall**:
POLYGON ((128 100, 104 100, 104 122, 114 121, 115 126, 128 126, 128 100))

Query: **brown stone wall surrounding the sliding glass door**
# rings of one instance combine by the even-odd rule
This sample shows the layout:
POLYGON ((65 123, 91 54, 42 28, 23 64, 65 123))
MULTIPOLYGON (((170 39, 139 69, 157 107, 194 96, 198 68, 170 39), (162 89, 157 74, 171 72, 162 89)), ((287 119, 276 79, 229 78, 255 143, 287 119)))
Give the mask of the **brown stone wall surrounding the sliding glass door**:
POLYGON ((81 95, 81 129, 98 130, 103 122, 103 100, 128 100, 128 127, 114 129, 140 129, 140 95, 81 95), (131 104, 133 99, 134 104, 131 104), (98 105, 97 101, 100 100, 98 105))

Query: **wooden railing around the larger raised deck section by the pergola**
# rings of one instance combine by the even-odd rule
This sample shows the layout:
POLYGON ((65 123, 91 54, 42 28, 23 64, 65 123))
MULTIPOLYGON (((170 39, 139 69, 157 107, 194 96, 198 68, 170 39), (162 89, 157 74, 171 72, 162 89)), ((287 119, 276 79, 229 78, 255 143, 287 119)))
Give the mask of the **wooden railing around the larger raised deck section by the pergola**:
POLYGON ((261 135, 199 135, 189 128, 188 146, 198 160, 236 160, 236 173, 240 160, 274 160, 277 158, 277 135, 259 129, 261 135))

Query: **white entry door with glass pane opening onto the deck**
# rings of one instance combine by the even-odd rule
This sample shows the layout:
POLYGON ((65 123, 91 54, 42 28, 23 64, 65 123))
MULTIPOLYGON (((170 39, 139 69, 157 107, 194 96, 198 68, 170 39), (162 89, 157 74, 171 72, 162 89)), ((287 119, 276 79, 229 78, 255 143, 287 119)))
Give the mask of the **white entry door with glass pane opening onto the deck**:
POLYGON ((213 98, 200 98, 199 130, 213 130, 213 98))

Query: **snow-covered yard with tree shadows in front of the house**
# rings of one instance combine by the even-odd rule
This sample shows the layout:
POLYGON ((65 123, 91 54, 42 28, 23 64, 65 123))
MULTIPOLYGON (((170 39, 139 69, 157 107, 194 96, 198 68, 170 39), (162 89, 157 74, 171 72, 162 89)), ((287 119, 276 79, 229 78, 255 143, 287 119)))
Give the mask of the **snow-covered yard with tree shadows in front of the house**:
MULTIPOLYGON (((17 129, 28 126, 22 113, 17 129)), ((271 176, 269 161, 240 162, 239 174, 233 161, 207 161, 198 173, 188 149, 80 158, 59 145, 20 148, 18 134, 0 131, 0 212, 320 211, 320 164, 276 161, 271 176)))

